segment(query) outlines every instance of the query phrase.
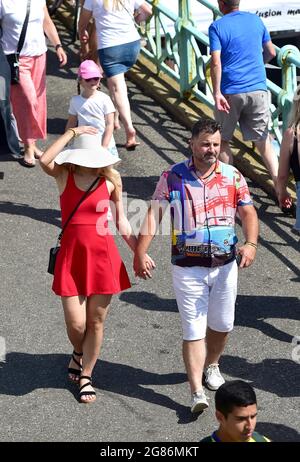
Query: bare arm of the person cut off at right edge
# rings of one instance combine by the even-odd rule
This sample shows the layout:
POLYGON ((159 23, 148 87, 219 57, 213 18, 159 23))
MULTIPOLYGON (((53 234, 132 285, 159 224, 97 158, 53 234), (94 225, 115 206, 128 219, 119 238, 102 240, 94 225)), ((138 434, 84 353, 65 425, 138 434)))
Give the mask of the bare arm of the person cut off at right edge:
POLYGON ((279 206, 283 205, 285 199, 290 198, 290 195, 286 190, 286 186, 289 179, 290 158, 292 154, 293 141, 294 131, 292 128, 288 128, 283 134, 280 146, 279 169, 277 178, 277 195, 279 206))

